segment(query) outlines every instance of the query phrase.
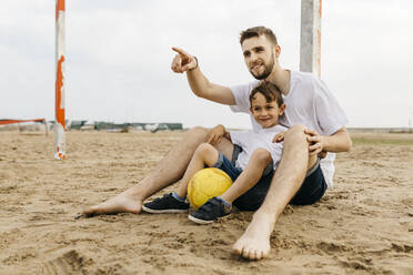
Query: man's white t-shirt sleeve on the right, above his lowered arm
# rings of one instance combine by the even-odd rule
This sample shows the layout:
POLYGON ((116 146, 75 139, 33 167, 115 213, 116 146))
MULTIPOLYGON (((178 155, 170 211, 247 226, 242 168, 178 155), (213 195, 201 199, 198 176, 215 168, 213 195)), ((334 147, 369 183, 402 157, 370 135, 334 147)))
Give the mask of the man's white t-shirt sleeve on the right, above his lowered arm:
POLYGON ((314 110, 320 129, 326 135, 332 135, 349 123, 344 110, 339 105, 324 82, 314 82, 314 110))

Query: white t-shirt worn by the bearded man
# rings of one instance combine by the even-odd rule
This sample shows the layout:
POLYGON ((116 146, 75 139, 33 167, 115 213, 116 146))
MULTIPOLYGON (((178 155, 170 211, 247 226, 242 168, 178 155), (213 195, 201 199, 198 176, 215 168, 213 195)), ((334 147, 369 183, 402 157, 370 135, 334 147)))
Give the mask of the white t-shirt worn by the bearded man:
MULTIPOLYGON (((231 105, 233 112, 249 113, 252 130, 260 131, 258 124, 250 113, 250 93, 260 81, 253 81, 244 85, 232 86, 232 93, 236 105, 231 105)), ((290 92, 283 96, 286 105, 285 112, 280 116, 280 124, 291 128, 303 124, 321 135, 334 134, 349 122, 343 109, 326 88, 323 81, 312 73, 291 71, 290 92)), ((335 153, 328 153, 321 160, 321 169, 329 187, 333 186, 335 153)))

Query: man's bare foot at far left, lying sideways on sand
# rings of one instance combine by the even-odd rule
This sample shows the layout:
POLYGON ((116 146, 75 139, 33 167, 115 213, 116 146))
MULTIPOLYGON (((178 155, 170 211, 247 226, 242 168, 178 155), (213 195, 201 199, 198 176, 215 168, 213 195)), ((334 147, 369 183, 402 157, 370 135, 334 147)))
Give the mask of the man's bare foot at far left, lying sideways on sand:
POLYGON ((137 201, 131 195, 121 193, 115 197, 110 198, 103 203, 93 205, 83 211, 85 217, 101 215, 101 214, 115 214, 115 213, 134 213, 138 214, 142 210, 142 202, 137 201))

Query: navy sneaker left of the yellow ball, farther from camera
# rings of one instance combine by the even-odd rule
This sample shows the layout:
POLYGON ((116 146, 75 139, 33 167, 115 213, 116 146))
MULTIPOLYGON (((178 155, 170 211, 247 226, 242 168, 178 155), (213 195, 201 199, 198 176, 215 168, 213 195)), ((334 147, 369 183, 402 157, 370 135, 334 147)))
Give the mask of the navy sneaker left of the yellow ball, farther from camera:
POLYGON ((180 202, 173 197, 172 193, 164 194, 150 203, 145 203, 142 210, 149 213, 185 213, 189 210, 189 203, 180 202))

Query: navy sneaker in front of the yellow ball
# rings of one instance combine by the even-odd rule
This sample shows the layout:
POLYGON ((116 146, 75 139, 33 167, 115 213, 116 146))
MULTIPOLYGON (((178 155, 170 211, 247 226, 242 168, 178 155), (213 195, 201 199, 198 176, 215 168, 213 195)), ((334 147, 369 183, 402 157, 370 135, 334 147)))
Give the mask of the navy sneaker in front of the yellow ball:
POLYGON ((209 224, 219 217, 231 213, 232 206, 225 205, 215 196, 204 203, 198 211, 191 213, 188 218, 198 224, 209 224))

